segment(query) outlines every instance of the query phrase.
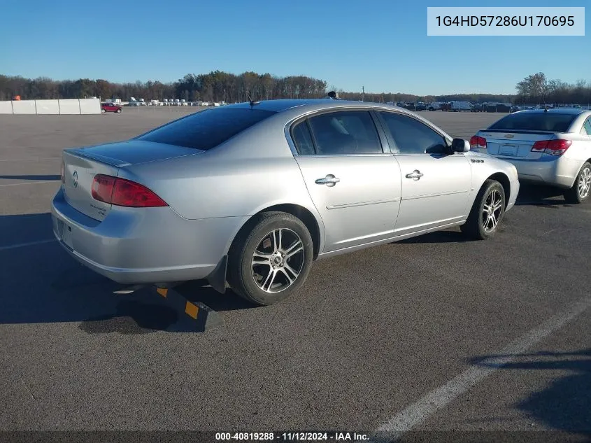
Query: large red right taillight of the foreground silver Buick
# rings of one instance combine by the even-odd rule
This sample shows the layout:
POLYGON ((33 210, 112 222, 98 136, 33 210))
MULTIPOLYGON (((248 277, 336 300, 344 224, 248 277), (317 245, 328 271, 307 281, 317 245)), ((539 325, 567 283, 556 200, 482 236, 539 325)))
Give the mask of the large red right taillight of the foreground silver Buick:
POLYGON ((133 208, 168 206, 154 192, 139 183, 103 174, 94 176, 92 198, 99 202, 133 208))

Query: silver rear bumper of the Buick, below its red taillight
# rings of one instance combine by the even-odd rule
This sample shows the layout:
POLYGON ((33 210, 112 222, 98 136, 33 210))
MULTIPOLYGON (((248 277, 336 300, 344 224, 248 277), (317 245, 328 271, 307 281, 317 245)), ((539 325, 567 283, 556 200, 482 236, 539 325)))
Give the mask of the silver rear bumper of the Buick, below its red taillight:
POLYGON ((227 253, 242 219, 187 220, 169 207, 113 207, 99 222, 73 209, 62 190, 52 202, 53 231, 64 249, 123 284, 206 279, 227 253))

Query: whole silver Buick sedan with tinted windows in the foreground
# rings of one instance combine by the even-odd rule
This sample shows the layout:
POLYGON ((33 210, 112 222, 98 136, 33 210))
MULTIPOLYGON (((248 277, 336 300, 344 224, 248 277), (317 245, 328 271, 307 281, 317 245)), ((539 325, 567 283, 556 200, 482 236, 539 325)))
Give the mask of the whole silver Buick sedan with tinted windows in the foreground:
POLYGON ((251 101, 64 150, 52 220, 66 251, 113 281, 205 279, 264 305, 319 258, 458 225, 487 239, 518 191, 511 163, 405 109, 251 101))

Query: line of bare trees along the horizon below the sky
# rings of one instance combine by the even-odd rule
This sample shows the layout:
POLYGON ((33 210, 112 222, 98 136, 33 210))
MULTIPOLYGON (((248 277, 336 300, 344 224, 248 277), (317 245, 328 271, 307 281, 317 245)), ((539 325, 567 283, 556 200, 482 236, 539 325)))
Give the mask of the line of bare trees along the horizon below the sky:
MULTIPOLYGON (((334 90, 334 87, 330 87, 334 90)), ((591 103, 591 83, 578 80, 574 84, 561 80, 547 80, 536 73, 521 80, 515 87, 517 94, 448 94, 420 96, 407 93, 346 92, 338 90, 342 99, 375 101, 451 101, 471 103, 501 102, 514 104, 537 103, 591 103)), ((136 83, 113 83, 108 80, 80 78, 78 80, 52 80, 51 78, 23 78, 0 75, 0 100, 21 99, 101 99, 130 97, 145 100, 185 99, 187 101, 248 101, 269 99, 320 98, 328 92, 327 82, 308 76, 272 76, 252 71, 241 74, 211 71, 205 74, 187 74, 171 83, 158 80, 136 83)))

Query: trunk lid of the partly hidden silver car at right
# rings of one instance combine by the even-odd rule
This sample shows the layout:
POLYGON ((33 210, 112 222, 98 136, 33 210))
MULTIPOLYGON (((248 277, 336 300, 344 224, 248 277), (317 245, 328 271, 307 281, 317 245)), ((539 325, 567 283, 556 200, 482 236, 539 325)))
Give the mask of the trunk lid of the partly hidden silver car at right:
POLYGON ((542 153, 532 152, 536 141, 553 140, 556 134, 550 131, 481 131, 478 136, 486 139, 486 152, 494 157, 508 160, 538 160, 542 153))

